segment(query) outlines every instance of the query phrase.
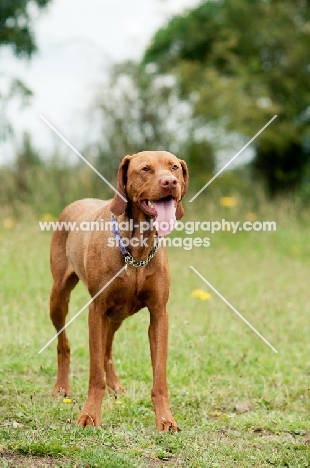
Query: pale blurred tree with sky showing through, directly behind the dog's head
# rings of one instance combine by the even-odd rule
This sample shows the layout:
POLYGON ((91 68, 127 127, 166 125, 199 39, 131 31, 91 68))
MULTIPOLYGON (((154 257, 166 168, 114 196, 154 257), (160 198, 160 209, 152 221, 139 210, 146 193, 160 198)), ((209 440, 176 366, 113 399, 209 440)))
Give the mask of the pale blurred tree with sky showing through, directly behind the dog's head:
POLYGON ((96 167, 109 177, 126 154, 149 149, 171 151, 190 168, 199 160, 211 173, 213 149, 196 137, 191 106, 178 96, 175 79, 158 74, 156 67, 133 61, 114 65, 94 104, 93 122, 101 134, 96 167))

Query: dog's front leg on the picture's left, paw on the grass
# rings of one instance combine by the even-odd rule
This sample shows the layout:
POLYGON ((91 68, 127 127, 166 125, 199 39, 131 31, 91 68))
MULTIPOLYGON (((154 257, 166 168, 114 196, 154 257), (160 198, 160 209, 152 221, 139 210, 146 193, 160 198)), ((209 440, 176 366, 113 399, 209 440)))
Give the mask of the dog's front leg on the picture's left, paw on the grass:
POLYGON ((105 390, 103 365, 108 319, 98 301, 90 305, 88 324, 90 373, 87 400, 78 418, 78 425, 82 427, 100 426, 101 403, 105 390))

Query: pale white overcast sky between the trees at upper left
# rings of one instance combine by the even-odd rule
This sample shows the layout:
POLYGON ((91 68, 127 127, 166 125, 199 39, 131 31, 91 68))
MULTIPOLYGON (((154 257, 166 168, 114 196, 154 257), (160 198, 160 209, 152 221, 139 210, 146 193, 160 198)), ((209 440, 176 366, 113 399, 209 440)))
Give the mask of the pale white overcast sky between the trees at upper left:
MULTIPOLYGON (((38 117, 41 113, 72 144, 81 145, 82 118, 107 65, 128 58, 139 59, 160 26, 174 13, 198 3, 197 0, 52 0, 36 20, 39 52, 32 60, 17 60, 6 49, 0 52, 2 82, 4 77, 19 77, 35 93, 27 109, 11 106, 17 137, 27 130, 39 148, 53 146, 57 137, 38 117)), ((12 145, 0 144, 0 162, 12 154, 12 145)))

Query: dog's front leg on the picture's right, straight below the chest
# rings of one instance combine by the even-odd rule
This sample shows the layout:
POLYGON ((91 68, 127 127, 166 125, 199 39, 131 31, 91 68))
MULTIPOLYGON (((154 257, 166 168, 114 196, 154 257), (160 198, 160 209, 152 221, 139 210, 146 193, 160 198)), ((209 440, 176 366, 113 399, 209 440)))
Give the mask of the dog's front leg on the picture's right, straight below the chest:
POLYGON ((168 314, 166 309, 150 309, 149 340, 153 367, 152 401, 156 427, 160 431, 179 431, 171 414, 167 389, 168 314))

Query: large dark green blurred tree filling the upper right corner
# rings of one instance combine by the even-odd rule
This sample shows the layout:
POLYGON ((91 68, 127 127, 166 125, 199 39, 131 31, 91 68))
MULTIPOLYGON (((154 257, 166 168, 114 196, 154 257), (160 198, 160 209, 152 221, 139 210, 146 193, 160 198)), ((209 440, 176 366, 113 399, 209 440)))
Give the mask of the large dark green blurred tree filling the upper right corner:
POLYGON ((253 136, 253 167, 272 195, 296 188, 310 160, 307 0, 210 0, 157 31, 143 62, 178 77, 194 115, 253 136))

